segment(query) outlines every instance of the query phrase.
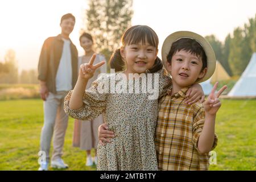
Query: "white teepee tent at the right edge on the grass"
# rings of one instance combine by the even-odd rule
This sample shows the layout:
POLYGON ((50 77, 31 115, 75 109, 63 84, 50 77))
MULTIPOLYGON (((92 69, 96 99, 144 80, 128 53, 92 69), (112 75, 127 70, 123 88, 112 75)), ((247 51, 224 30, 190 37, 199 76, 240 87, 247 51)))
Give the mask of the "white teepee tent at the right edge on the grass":
POLYGON ((256 52, 240 79, 236 82, 228 96, 230 97, 256 97, 256 52))

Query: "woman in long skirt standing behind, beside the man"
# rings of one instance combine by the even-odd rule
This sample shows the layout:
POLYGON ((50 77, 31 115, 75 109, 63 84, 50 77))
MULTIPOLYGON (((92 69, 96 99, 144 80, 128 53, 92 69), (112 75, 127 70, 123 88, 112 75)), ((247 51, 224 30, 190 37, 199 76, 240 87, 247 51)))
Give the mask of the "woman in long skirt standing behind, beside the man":
MULTIPOLYGON (((94 54, 93 51, 93 38, 88 33, 83 33, 80 38, 80 46, 84 48, 85 55, 79 57, 78 65, 89 63, 89 60, 94 54)), ((102 55, 96 55, 95 63, 100 63, 105 57, 102 55)), ((97 69, 94 76, 88 81, 86 89, 90 88, 92 82, 97 79, 100 73, 106 73, 106 67, 102 66, 97 69)), ((93 122, 82 122, 82 120, 75 119, 74 134, 73 134, 73 146, 80 147, 81 150, 86 150, 86 166, 92 166, 93 160, 90 154, 92 148, 97 148, 98 145, 98 126, 104 123, 102 114, 99 115, 93 122)), ((96 150, 97 154, 97 150, 96 150)), ((94 162, 97 164, 97 156, 95 156, 94 162)))

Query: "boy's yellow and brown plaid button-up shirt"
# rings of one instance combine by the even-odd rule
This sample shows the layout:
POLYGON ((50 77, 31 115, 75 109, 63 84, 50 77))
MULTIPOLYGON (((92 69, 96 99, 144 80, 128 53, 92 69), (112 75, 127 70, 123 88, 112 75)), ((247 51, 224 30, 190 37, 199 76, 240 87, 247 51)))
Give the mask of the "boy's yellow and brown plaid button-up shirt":
MULTIPOLYGON (((159 100, 155 147, 160 170, 207 170, 209 155, 200 154, 197 143, 204 126, 204 107, 199 102, 187 105, 183 101, 188 88, 159 100)), ((217 146, 214 137, 213 148, 217 146)))

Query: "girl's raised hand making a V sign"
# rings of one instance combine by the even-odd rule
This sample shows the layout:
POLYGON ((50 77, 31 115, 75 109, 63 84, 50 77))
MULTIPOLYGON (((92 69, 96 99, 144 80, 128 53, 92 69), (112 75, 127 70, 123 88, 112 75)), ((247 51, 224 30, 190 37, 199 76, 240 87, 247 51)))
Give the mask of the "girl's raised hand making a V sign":
POLYGON ((93 77, 95 70, 105 64, 105 61, 101 61, 100 63, 93 65, 95 57, 96 57, 96 54, 94 53, 89 63, 81 64, 79 69, 80 78, 89 80, 89 78, 93 77))

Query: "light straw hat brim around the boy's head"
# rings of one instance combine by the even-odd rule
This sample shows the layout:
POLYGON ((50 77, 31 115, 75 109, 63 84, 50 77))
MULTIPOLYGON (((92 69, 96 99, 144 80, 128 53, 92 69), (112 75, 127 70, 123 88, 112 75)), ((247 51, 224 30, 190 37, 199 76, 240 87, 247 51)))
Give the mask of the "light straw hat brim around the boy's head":
POLYGON ((207 73, 203 78, 198 79, 196 82, 199 83, 199 82, 208 80, 215 71, 216 57, 209 42, 205 38, 203 38, 203 36, 196 34, 194 32, 177 31, 167 36, 167 38, 164 40, 163 47, 162 47, 162 60, 163 60, 164 67, 167 68, 167 65, 166 65, 167 55, 170 52, 172 43, 174 43, 176 40, 179 40, 181 38, 195 39, 196 42, 198 42, 203 47, 205 51, 205 55, 207 56, 207 73))

